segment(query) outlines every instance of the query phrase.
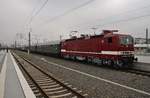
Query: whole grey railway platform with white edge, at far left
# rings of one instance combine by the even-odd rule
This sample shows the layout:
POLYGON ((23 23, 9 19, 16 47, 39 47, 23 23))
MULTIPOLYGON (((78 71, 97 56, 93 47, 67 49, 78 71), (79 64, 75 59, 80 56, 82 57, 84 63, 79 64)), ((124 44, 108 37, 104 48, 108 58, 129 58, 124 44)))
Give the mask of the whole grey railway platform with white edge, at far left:
POLYGON ((2 54, 5 57, 0 56, 0 98, 36 98, 11 53, 2 54))

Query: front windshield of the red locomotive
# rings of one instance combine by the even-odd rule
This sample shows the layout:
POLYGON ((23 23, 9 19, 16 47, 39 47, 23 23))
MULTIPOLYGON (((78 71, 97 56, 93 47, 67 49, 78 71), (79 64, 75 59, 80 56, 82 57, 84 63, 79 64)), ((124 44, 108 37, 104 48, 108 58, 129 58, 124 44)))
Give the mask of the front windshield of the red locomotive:
POLYGON ((131 36, 121 36, 120 37, 120 43, 122 45, 133 44, 133 37, 131 37, 131 36))

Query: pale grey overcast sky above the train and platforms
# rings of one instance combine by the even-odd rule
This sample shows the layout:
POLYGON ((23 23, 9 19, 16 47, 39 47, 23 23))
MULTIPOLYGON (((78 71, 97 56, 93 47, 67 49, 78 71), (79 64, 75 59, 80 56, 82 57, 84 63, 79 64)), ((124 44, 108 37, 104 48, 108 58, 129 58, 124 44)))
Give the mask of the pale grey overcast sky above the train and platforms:
POLYGON ((145 28, 150 29, 150 0, 48 0, 41 8, 45 2, 0 0, 0 42, 27 39, 29 28, 40 41, 67 38, 73 30, 93 34, 93 27, 96 34, 118 29, 134 37, 145 37, 145 28))

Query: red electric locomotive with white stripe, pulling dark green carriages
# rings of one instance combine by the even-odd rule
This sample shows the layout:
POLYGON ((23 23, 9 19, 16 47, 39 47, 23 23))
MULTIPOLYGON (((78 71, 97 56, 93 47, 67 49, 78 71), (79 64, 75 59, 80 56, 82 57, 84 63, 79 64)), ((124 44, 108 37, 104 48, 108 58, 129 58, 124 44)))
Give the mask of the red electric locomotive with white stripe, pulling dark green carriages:
POLYGON ((61 56, 114 67, 129 67, 134 61, 133 37, 103 30, 101 35, 82 36, 61 42, 61 56))

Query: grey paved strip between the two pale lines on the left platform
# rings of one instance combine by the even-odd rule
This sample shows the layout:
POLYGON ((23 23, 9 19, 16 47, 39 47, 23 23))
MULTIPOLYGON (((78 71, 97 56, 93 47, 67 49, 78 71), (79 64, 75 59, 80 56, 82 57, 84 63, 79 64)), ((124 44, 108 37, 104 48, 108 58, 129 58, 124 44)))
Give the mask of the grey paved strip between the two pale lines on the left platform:
POLYGON ((4 98, 25 98, 10 54, 7 56, 4 98))

